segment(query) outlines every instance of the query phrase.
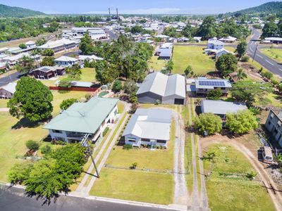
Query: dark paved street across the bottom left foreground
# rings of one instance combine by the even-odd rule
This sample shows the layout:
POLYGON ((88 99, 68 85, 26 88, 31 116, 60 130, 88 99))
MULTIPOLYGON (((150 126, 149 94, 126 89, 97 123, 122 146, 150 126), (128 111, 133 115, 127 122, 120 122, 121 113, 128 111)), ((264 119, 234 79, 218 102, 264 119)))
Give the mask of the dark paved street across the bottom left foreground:
POLYGON ((36 197, 27 197, 20 188, 0 189, 0 210, 1 211, 159 211, 154 207, 141 207, 111 203, 99 200, 89 200, 71 196, 59 196, 56 203, 52 201, 49 205, 36 197))

